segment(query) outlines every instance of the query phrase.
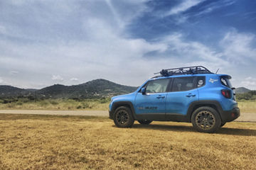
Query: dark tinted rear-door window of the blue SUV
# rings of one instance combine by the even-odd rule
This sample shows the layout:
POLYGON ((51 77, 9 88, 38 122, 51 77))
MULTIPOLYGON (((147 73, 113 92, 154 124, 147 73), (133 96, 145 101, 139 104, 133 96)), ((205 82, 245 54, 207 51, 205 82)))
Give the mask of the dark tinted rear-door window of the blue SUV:
POLYGON ((189 91, 196 89, 196 77, 176 77, 171 91, 189 91))

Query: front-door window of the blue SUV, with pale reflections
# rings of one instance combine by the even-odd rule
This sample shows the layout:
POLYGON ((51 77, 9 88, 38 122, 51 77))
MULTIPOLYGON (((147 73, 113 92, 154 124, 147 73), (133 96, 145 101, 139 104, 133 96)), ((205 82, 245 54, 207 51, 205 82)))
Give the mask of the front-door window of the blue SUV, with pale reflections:
POLYGON ((166 92, 170 79, 157 79, 146 84, 146 94, 166 92))

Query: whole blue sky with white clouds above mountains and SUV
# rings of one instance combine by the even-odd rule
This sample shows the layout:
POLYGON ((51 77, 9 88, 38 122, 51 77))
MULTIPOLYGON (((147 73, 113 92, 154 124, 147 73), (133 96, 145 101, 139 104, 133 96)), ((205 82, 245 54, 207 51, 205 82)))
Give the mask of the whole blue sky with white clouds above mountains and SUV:
POLYGON ((203 65, 256 90, 256 1, 0 0, 0 84, 41 89, 203 65))

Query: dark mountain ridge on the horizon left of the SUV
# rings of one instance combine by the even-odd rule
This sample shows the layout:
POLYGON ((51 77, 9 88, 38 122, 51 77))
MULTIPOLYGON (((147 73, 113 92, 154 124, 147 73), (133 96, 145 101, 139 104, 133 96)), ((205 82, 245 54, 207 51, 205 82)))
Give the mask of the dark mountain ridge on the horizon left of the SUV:
POLYGON ((136 89, 137 87, 134 86, 115 84, 105 79, 95 79, 85 84, 73 86, 55 84, 40 90, 0 86, 0 97, 36 96, 38 98, 95 98, 127 94, 136 89))

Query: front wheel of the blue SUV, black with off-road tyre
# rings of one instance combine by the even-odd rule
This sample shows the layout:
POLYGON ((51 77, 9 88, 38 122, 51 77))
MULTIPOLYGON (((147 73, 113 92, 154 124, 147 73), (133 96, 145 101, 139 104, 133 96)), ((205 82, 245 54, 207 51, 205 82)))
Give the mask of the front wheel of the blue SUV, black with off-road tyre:
POLYGON ((129 108, 121 106, 114 111, 114 124, 119 128, 131 128, 134 118, 129 108))

